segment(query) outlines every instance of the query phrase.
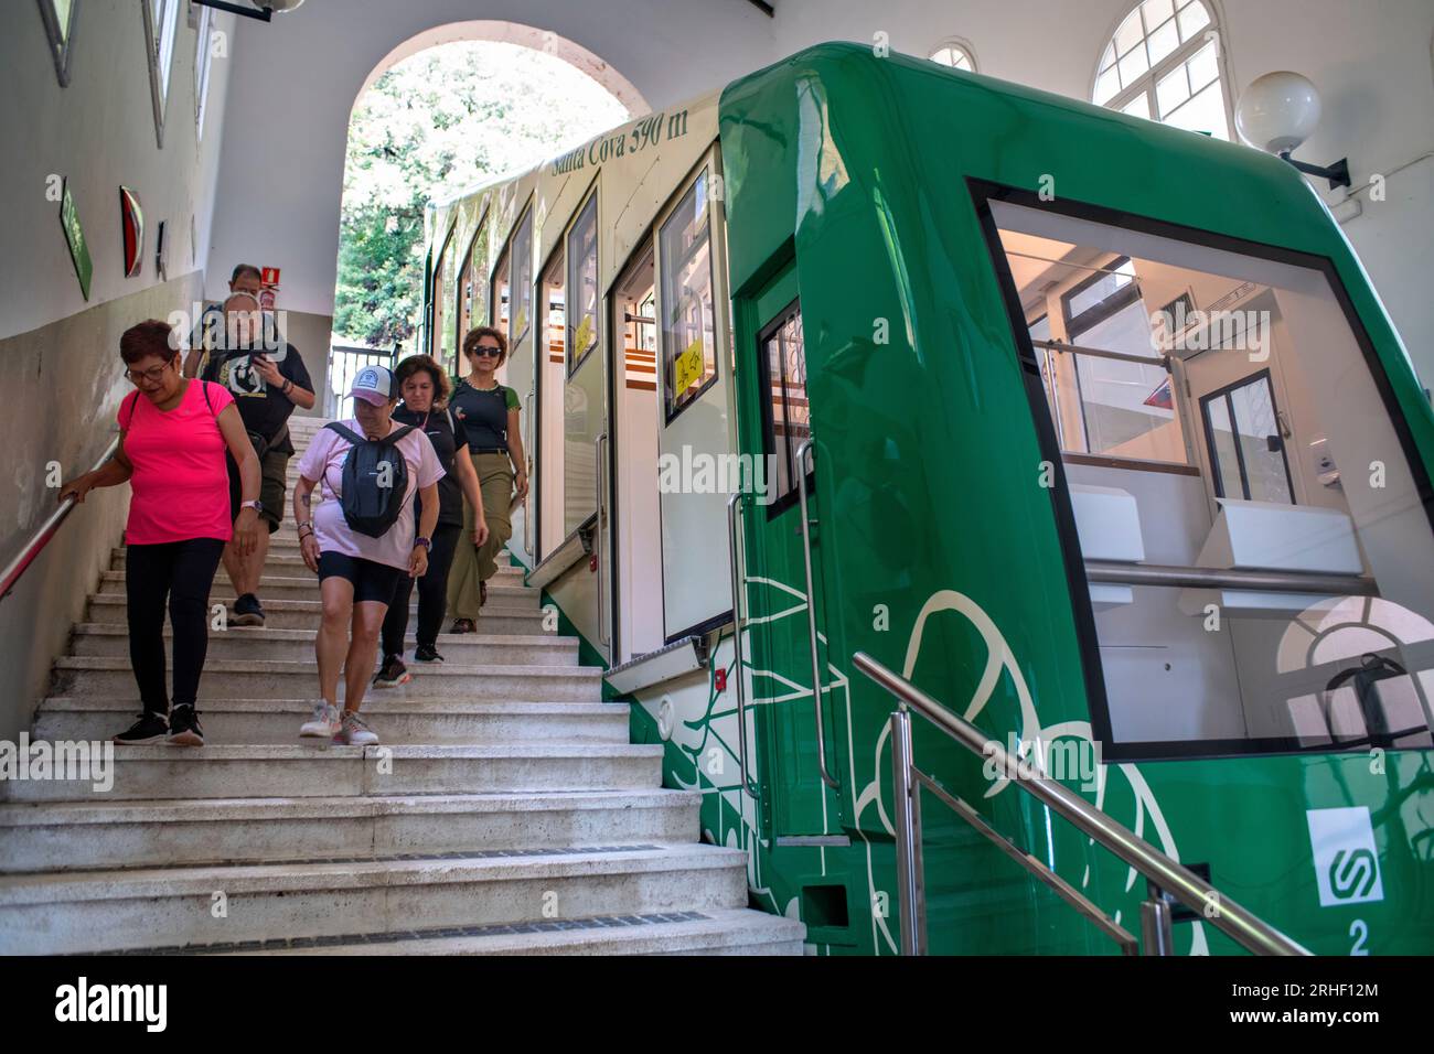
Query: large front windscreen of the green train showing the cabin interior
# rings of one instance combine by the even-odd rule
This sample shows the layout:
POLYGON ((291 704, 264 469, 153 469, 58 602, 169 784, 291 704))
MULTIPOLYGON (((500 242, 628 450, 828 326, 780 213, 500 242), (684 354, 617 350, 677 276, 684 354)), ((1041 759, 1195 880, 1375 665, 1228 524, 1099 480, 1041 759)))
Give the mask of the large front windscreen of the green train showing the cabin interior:
MULTIPOLYGON (((1166 360, 1077 373, 1093 446, 1182 420, 1202 439, 1190 469, 1067 459, 1053 493, 1074 523, 1065 558, 1084 564, 1074 602, 1106 757, 1434 746, 1434 488, 1334 265, 1076 202, 987 208, 1038 363, 1030 320, 1057 267, 1100 274, 1060 294, 1053 328, 1121 354, 1154 341, 1166 360)), ((1050 386, 1045 410, 1031 399, 1076 420, 1050 386)))

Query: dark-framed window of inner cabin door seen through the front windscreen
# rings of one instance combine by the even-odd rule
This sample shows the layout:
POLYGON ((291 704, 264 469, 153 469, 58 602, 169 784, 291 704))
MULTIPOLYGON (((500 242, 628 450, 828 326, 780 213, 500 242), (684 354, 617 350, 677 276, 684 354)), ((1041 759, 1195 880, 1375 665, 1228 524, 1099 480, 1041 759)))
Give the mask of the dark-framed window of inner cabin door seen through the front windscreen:
POLYGON ((1295 503, 1269 370, 1205 396, 1200 417, 1216 496, 1295 503))

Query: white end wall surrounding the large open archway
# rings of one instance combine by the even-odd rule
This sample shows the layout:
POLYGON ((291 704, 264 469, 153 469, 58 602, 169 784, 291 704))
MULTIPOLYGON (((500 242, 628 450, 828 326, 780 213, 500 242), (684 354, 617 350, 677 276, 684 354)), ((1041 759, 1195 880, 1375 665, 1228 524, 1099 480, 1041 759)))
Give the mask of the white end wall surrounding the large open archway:
POLYGON ((331 315, 348 115, 403 42, 475 19, 551 30, 592 52, 647 102, 700 95, 776 57, 771 19, 723 0, 323 0, 239 27, 209 288, 235 261, 282 268, 280 307, 331 315))

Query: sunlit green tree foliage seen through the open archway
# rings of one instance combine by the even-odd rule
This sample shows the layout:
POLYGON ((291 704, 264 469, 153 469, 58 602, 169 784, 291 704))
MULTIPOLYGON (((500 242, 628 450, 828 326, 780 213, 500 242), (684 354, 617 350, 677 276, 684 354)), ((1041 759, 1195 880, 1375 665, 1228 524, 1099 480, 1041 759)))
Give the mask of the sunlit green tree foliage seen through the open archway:
POLYGON ((440 44, 394 65, 348 123, 334 336, 412 343, 423 307, 423 209, 561 153, 627 109, 555 54, 440 44))

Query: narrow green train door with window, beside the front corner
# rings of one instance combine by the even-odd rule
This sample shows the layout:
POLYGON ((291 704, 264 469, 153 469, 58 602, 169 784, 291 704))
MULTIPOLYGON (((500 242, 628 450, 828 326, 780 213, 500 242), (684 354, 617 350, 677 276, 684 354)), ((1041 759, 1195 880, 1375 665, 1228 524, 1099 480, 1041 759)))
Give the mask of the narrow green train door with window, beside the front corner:
POLYGON ((743 609, 764 819, 777 846, 846 845, 833 721, 833 701, 845 713, 845 683, 829 664, 819 559, 823 483, 833 476, 812 443, 794 264, 734 303, 740 449, 763 478, 743 500, 743 609))

